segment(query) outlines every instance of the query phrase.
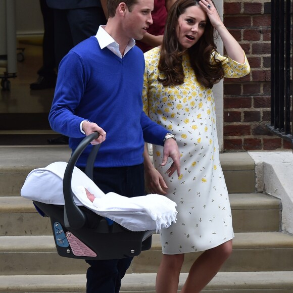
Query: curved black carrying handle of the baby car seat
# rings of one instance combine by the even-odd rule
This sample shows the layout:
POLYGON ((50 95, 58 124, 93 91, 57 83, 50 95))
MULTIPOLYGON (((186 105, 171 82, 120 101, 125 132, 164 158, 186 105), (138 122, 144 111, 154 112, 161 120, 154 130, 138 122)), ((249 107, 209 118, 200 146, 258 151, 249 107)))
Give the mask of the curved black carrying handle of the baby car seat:
MULTIPOLYGON (((93 132, 87 135, 81 142, 78 144, 76 150, 71 155, 67 167, 64 172, 63 178, 63 194, 64 194, 64 224, 66 228, 80 229, 84 226, 86 222, 85 214, 77 207, 73 200, 73 192, 71 189, 72 173, 75 167, 77 160, 79 159, 82 152, 85 150, 87 145, 94 139, 99 137, 99 133, 93 132)), ((95 144, 92 147, 92 150, 88 156, 85 173, 92 179, 93 176, 93 165, 94 160, 99 151, 101 144, 95 144)))

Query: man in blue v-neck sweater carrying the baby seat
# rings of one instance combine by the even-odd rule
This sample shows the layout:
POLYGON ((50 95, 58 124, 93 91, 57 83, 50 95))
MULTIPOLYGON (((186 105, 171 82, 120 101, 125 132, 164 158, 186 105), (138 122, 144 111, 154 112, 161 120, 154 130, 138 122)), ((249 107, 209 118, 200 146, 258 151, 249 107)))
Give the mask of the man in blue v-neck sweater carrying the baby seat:
MULTIPOLYGON (((154 1, 108 0, 107 8, 107 24, 60 63, 49 121, 70 137, 72 151, 85 135, 99 132, 91 142, 103 142, 94 162, 94 182, 105 193, 142 196, 144 141, 164 145, 162 166, 170 157, 173 163, 166 172, 180 175, 174 136, 142 111, 144 58, 134 39, 141 39, 152 24, 154 1)), ((79 168, 85 167, 91 147, 80 156, 79 168)), ((87 292, 118 293, 131 260, 87 260, 87 292)))

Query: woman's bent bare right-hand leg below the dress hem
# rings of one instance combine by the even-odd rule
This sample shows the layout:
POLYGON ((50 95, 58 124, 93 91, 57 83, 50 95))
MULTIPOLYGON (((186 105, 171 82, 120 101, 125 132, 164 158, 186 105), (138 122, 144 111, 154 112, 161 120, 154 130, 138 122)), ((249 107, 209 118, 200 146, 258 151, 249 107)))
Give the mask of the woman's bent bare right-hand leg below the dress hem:
POLYGON ((232 240, 205 251, 191 266, 181 293, 200 292, 232 253, 232 240))

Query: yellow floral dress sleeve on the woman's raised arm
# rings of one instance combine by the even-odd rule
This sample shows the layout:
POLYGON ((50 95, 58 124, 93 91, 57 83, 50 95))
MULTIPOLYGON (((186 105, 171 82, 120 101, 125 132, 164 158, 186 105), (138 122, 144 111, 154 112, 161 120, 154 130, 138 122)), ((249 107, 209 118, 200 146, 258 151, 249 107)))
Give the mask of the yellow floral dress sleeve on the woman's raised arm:
POLYGON ((243 64, 240 64, 229 57, 221 56, 219 53, 215 53, 212 56, 212 60, 217 59, 222 61, 222 67, 224 69, 225 77, 243 77, 250 73, 250 65, 244 51, 243 54, 245 58, 245 62, 243 64))

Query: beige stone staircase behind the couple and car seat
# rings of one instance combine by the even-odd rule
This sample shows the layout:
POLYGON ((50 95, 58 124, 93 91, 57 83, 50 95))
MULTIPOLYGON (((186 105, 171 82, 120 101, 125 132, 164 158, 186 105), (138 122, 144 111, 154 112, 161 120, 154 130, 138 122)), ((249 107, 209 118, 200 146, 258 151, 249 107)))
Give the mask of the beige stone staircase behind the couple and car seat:
MULTIPOLYGON (((32 169, 69 157, 67 145, 0 147, 0 292, 85 292, 87 264, 60 257, 50 220, 20 197, 32 169)), ((254 161, 247 153, 220 158, 235 238, 231 257, 203 292, 293 292, 293 236, 280 232, 280 200, 255 192, 254 161)), ((134 258, 121 292, 154 293, 161 255, 155 234, 151 250, 134 258)), ((199 255, 185 255, 179 287, 199 255)))

